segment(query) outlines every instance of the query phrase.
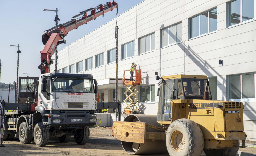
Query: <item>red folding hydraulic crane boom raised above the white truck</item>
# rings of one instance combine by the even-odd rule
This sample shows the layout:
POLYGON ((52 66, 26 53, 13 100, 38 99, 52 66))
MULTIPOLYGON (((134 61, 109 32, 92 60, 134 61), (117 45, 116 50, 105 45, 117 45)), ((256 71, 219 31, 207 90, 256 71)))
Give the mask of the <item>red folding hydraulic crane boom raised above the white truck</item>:
POLYGON ((41 53, 41 64, 38 68, 41 70, 41 74, 50 72, 50 65, 53 64, 51 59, 52 54, 57 50, 57 46, 61 43, 66 44, 64 37, 68 34, 69 31, 77 29, 79 26, 87 24, 91 20, 95 20, 100 15, 104 15, 106 12, 112 11, 114 8, 118 9, 118 5, 115 1, 107 2, 106 4, 95 8, 90 8, 85 11, 79 12, 78 15, 73 16, 73 19, 70 21, 59 24, 51 29, 46 30, 46 33, 42 36, 42 42, 45 45, 41 53), (100 9, 100 10, 99 10, 100 9), (99 10, 96 12, 96 10, 99 10), (90 15, 87 15, 87 12, 91 11, 90 15), (79 17, 81 16, 81 17, 79 17), (74 19, 79 17, 77 19, 74 19))

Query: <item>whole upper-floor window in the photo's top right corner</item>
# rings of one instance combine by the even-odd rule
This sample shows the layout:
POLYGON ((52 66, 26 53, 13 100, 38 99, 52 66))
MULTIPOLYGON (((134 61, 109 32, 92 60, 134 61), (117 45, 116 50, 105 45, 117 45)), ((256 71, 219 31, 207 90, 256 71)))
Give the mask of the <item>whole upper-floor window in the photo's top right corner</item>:
POLYGON ((229 26, 255 18, 254 0, 236 0, 229 3, 229 26))

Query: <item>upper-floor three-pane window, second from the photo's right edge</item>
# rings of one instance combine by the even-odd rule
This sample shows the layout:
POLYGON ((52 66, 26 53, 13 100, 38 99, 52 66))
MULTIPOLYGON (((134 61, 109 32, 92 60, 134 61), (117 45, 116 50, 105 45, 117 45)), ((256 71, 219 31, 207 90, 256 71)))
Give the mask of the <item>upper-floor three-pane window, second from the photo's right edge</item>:
POLYGON ((190 38, 217 31, 217 8, 190 19, 190 38))

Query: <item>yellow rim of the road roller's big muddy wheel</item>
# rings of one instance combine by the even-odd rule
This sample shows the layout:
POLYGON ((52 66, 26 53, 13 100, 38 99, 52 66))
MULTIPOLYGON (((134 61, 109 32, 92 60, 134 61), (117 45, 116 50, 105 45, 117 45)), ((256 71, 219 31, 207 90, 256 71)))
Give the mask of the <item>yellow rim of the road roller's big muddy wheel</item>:
POLYGON ((180 131, 175 131, 171 136, 171 145, 176 152, 181 152, 185 147, 185 138, 180 131))

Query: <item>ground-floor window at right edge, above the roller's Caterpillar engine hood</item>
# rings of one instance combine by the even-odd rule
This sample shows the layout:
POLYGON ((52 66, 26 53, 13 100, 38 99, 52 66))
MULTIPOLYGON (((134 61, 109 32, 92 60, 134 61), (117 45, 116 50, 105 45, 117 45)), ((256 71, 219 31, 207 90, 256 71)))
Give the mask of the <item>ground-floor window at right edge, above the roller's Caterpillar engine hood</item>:
POLYGON ((229 99, 255 98, 255 73, 229 75, 229 99))

